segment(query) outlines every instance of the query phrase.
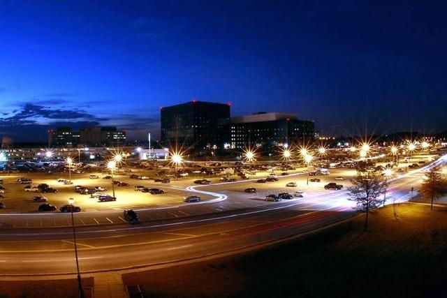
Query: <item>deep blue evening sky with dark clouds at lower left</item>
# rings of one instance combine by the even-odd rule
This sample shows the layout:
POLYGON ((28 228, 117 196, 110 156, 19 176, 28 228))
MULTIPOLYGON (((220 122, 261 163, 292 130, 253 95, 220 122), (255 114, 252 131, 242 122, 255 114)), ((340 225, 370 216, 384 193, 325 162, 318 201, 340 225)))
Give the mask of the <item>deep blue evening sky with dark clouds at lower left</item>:
POLYGON ((442 1, 0 0, 0 136, 67 122, 159 134, 191 98, 322 133, 447 129, 442 1))

